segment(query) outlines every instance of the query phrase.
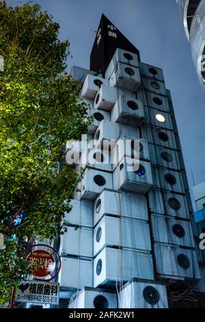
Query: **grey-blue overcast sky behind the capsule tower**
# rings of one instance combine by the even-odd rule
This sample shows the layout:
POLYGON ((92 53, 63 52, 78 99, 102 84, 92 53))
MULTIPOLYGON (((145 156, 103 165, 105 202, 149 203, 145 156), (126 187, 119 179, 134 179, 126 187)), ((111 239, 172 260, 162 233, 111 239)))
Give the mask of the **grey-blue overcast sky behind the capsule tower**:
MULTIPOLYGON (((10 5, 27 1, 8 0, 10 5)), ((171 90, 190 188, 205 181, 205 96, 193 66, 176 0, 39 0, 70 40, 70 66, 89 69, 90 51, 104 13, 133 42, 141 61, 159 66, 171 90)))

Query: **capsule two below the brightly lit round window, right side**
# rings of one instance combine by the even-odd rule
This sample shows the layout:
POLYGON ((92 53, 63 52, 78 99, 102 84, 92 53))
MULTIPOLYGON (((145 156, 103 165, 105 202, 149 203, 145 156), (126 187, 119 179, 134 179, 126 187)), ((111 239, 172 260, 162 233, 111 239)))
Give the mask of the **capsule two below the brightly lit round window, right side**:
POLYGON ((151 164, 169 169, 181 169, 177 151, 167 149, 161 145, 153 145, 152 143, 149 143, 149 150, 151 164))

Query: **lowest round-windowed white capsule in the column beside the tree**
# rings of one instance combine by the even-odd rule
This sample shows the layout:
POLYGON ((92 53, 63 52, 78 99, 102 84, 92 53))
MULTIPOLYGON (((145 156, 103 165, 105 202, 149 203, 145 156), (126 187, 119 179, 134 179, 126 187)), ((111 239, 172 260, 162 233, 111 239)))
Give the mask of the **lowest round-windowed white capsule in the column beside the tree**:
POLYGON ((86 168, 78 188, 81 190, 82 199, 93 201, 103 189, 113 189, 112 174, 86 168))

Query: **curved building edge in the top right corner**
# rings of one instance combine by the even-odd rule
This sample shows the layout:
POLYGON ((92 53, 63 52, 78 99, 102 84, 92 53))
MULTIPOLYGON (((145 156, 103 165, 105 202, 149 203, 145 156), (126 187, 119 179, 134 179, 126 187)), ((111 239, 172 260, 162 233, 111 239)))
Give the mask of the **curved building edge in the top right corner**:
POLYGON ((205 1, 176 0, 200 84, 205 90, 205 1))

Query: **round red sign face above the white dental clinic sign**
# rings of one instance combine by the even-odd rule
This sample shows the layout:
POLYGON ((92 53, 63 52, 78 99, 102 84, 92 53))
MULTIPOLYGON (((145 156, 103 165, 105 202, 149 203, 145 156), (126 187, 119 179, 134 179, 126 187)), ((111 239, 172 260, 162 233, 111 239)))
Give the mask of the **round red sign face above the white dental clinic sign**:
POLYGON ((44 249, 37 249, 29 253, 27 262, 29 262, 29 269, 35 277, 46 277, 51 275, 55 269, 55 259, 49 251, 44 249))

